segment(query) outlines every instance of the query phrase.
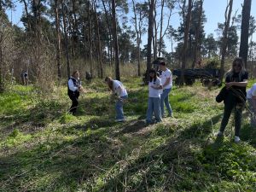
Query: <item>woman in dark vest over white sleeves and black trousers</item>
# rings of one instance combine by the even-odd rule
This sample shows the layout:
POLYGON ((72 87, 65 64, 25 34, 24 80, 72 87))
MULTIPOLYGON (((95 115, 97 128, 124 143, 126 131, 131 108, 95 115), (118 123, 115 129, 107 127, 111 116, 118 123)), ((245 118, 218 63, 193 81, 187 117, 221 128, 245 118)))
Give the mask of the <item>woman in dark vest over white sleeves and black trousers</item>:
POLYGON ((82 90, 81 82, 79 79, 79 71, 73 72, 67 84, 68 84, 67 95, 72 101, 72 106, 69 109, 69 112, 73 113, 74 115, 79 106, 79 95, 80 95, 79 91, 82 90))

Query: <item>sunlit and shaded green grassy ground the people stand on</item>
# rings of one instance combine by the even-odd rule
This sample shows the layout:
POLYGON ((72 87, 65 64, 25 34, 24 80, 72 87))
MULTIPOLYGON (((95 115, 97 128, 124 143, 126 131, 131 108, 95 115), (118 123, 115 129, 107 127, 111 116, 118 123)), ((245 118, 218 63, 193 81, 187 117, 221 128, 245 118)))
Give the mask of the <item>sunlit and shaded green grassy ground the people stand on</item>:
MULTIPOLYGON (((106 85, 94 80, 67 113, 65 86, 45 96, 14 85, 0 95, 0 191, 255 191, 256 129, 244 111, 241 143, 234 118, 217 139, 218 89, 174 87, 175 118, 144 124, 148 88, 125 79, 125 123, 115 123, 106 85)), ((250 82, 253 84, 253 81, 250 82)))

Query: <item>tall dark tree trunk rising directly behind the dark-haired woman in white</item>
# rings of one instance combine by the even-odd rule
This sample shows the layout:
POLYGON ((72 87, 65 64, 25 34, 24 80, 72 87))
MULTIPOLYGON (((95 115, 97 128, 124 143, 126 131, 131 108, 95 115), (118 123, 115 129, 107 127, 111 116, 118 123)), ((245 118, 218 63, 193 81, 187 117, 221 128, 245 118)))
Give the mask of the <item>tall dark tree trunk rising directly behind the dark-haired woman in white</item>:
POLYGON ((154 0, 150 0, 149 13, 148 13, 148 45, 147 45, 147 78, 148 71, 151 68, 151 49, 152 49, 152 38, 153 38, 153 27, 154 27, 154 0))

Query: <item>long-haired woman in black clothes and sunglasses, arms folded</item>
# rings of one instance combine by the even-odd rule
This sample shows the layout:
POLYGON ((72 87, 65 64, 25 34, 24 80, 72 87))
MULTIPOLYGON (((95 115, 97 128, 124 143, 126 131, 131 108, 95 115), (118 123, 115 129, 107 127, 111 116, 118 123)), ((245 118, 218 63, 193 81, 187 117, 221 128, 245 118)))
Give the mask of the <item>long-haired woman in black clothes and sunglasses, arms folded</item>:
POLYGON ((221 121, 218 137, 223 136, 226 125, 229 122, 232 110, 235 110, 235 142, 240 142, 241 114, 246 103, 246 87, 248 73, 244 67, 244 61, 237 57, 230 71, 226 73, 225 87, 226 96, 224 96, 224 116, 221 121))

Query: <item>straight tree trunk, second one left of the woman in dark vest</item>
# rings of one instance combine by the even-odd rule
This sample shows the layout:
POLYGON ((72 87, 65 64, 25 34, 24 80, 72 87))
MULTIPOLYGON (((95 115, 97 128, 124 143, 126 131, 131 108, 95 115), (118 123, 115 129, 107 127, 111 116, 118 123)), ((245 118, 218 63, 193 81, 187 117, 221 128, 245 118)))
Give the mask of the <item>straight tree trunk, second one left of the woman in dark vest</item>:
POLYGON ((59 2, 55 0, 55 28, 56 28, 56 62, 58 69, 58 79, 61 79, 61 32, 60 32, 60 18, 59 18, 59 2))

